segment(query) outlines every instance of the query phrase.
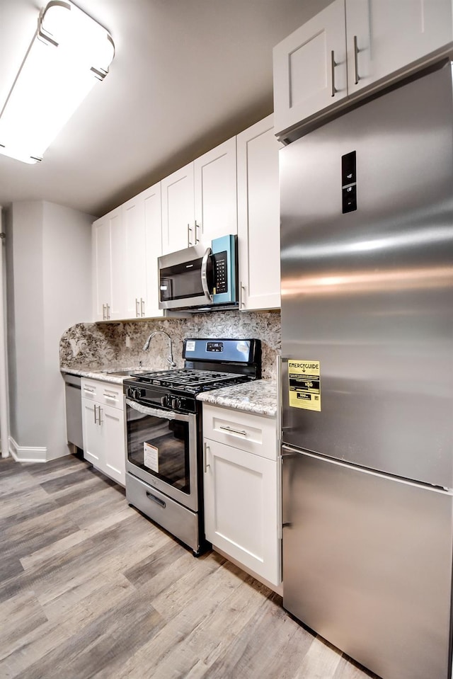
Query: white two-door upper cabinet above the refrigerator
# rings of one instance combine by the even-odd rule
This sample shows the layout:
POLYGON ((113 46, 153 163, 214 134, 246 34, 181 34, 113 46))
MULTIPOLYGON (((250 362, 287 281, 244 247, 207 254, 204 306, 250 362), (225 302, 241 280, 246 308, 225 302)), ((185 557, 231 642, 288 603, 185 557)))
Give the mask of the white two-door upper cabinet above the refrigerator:
POLYGON ((274 47, 275 132, 403 76, 452 39, 452 0, 334 0, 274 47))

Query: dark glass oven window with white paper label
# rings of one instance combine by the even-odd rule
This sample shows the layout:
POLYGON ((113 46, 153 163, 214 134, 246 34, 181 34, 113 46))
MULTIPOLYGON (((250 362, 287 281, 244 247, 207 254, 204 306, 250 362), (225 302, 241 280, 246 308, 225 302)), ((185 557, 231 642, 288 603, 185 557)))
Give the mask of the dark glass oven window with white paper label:
POLYGON ((127 458, 183 493, 190 493, 189 423, 127 409, 127 458))

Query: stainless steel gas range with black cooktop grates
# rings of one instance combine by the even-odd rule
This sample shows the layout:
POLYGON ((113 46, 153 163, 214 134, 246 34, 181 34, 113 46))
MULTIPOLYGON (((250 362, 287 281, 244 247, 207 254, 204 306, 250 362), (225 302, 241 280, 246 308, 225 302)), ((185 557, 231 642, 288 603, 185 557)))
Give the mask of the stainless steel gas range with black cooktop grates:
POLYGON ((135 373, 124 381, 126 497, 193 549, 205 549, 202 411, 197 394, 261 377, 256 339, 191 338, 184 368, 135 373))

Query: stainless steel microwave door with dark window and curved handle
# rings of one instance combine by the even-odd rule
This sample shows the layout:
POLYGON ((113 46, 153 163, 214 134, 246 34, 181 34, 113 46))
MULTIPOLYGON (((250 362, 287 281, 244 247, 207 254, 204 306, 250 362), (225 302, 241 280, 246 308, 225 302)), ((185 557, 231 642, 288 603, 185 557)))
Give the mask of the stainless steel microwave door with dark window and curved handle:
POLYGON ((212 304, 212 254, 195 245, 158 258, 159 309, 212 304))

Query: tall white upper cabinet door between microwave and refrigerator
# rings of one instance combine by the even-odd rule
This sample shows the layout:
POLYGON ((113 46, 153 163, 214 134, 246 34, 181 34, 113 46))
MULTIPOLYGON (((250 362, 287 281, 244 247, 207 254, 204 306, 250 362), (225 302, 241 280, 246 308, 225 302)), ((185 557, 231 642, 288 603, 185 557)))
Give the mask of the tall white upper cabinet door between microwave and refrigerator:
POLYGON ((273 115, 237 137, 241 309, 280 307, 280 184, 273 115))

